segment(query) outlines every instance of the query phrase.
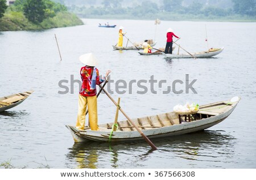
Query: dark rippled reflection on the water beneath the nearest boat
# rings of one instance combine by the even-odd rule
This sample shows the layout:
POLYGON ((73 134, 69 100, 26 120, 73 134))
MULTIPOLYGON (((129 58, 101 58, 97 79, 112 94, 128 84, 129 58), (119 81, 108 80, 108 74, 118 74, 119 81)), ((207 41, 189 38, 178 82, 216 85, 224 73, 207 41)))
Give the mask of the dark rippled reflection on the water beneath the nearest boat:
MULTIPOLYGON (((136 142, 80 142, 68 148, 66 155, 68 168, 136 168, 155 156, 162 158, 181 158, 183 160, 199 160, 232 154, 236 138, 225 131, 200 131, 191 134, 155 138, 152 143, 158 150, 152 151, 144 140, 136 142), (166 155, 163 155, 163 154, 166 155), (218 155, 220 154, 220 155, 218 155), (129 156, 131 162, 126 162, 129 156)), ((161 168, 155 164, 154 168, 161 168)), ((167 168, 167 167, 166 167, 167 168)))

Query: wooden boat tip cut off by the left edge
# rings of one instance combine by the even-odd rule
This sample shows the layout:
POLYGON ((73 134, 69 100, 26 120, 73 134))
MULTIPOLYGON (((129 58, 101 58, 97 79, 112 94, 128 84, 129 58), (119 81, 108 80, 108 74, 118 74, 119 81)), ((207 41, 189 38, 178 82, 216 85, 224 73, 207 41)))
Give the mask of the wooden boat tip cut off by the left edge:
POLYGON ((7 109, 13 108, 16 105, 22 103, 31 93, 34 91, 26 91, 22 93, 17 93, 10 96, 5 96, 0 98, 0 112, 3 112, 7 109))

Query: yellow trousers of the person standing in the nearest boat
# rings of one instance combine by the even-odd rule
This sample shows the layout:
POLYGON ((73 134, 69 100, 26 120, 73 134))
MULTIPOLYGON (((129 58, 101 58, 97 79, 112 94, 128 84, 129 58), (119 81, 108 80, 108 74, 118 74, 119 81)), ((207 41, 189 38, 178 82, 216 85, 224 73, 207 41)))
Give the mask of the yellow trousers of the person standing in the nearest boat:
POLYGON ((84 130, 86 106, 88 106, 90 128, 93 131, 98 131, 97 96, 86 97, 79 95, 76 128, 84 130))

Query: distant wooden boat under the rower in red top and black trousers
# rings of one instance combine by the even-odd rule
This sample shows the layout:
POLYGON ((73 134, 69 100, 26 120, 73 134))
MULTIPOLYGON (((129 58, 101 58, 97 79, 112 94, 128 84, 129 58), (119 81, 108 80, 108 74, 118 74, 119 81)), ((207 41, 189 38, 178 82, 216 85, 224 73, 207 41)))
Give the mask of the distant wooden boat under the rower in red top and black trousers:
MULTIPOLYGON (((204 52, 198 52, 198 53, 191 53, 196 58, 210 58, 214 55, 220 54, 223 51, 224 48, 220 49, 214 49, 214 50, 207 50, 204 52)), ((166 59, 174 59, 174 58, 193 58, 190 54, 165 54, 163 53, 164 58, 166 59)))

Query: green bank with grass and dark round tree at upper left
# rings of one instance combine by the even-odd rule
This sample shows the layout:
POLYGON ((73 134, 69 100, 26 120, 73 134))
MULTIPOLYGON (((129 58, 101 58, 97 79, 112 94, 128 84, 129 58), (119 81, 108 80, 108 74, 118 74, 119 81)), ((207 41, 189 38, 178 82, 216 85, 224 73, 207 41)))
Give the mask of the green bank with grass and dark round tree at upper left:
POLYGON ((16 0, 14 6, 8 7, 5 16, 0 20, 0 31, 48 29, 82 24, 81 19, 68 12, 67 7, 60 3, 49 0, 16 0), (32 1, 34 3, 31 3, 32 1))

